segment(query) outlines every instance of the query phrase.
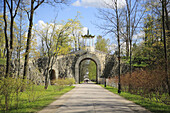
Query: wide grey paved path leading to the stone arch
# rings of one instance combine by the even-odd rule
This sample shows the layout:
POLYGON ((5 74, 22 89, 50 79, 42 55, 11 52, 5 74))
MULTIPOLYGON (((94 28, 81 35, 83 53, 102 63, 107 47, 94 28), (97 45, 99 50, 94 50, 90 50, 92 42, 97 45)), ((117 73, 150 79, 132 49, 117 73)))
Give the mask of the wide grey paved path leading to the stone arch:
POLYGON ((78 84, 38 113, 151 113, 96 84, 78 84))

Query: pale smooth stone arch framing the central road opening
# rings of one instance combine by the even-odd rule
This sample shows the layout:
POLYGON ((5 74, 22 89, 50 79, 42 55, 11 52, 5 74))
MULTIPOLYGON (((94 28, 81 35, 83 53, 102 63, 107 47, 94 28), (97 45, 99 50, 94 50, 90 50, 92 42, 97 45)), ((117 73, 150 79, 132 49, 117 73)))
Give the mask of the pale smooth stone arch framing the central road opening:
POLYGON ((77 61, 76 61, 76 64, 75 64, 75 81, 76 83, 80 83, 80 70, 79 70, 79 66, 80 66, 80 63, 84 60, 92 60, 96 63, 96 82, 98 83, 99 81, 99 77, 101 76, 101 63, 100 63, 100 60, 99 58, 95 55, 95 54, 91 54, 91 53, 87 53, 85 55, 82 55, 80 56, 77 61))

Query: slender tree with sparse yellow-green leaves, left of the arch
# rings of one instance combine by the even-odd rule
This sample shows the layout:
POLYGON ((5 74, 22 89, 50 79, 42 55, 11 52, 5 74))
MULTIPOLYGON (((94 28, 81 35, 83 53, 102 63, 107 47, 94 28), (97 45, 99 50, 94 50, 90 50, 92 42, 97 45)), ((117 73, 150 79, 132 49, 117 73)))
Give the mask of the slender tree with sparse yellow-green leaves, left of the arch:
POLYGON ((44 29, 37 31, 44 42, 44 52, 48 58, 47 67, 44 70, 45 89, 48 88, 50 70, 56 62, 57 56, 68 54, 71 51, 72 40, 69 35, 72 32, 72 26, 77 22, 75 20, 69 19, 63 24, 56 24, 55 21, 51 24, 46 23, 44 29))

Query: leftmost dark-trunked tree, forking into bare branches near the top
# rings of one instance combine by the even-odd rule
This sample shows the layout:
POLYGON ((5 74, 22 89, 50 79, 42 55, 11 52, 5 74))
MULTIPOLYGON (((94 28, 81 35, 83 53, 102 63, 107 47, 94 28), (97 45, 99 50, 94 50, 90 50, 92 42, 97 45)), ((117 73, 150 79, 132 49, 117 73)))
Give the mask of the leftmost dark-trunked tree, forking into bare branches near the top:
POLYGON ((4 18, 4 34, 5 34, 5 45, 7 50, 7 58, 6 58, 6 75, 5 77, 8 77, 10 74, 10 60, 12 58, 12 51, 13 51, 13 42, 14 42, 14 19, 17 15, 18 8, 20 5, 21 0, 4 0, 4 12, 3 12, 3 18, 4 18), (15 4, 14 4, 15 3, 15 4), (10 36, 8 36, 7 31, 7 7, 9 10, 9 16, 10 16, 10 36))

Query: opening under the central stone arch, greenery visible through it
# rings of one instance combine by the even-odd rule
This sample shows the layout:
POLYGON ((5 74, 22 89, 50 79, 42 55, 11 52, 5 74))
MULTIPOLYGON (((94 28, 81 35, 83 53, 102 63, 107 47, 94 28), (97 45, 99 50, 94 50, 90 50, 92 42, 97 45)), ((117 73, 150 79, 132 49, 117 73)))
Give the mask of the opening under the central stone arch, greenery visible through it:
POLYGON ((97 64, 92 59, 83 59, 79 64, 79 83, 97 82, 97 64))

